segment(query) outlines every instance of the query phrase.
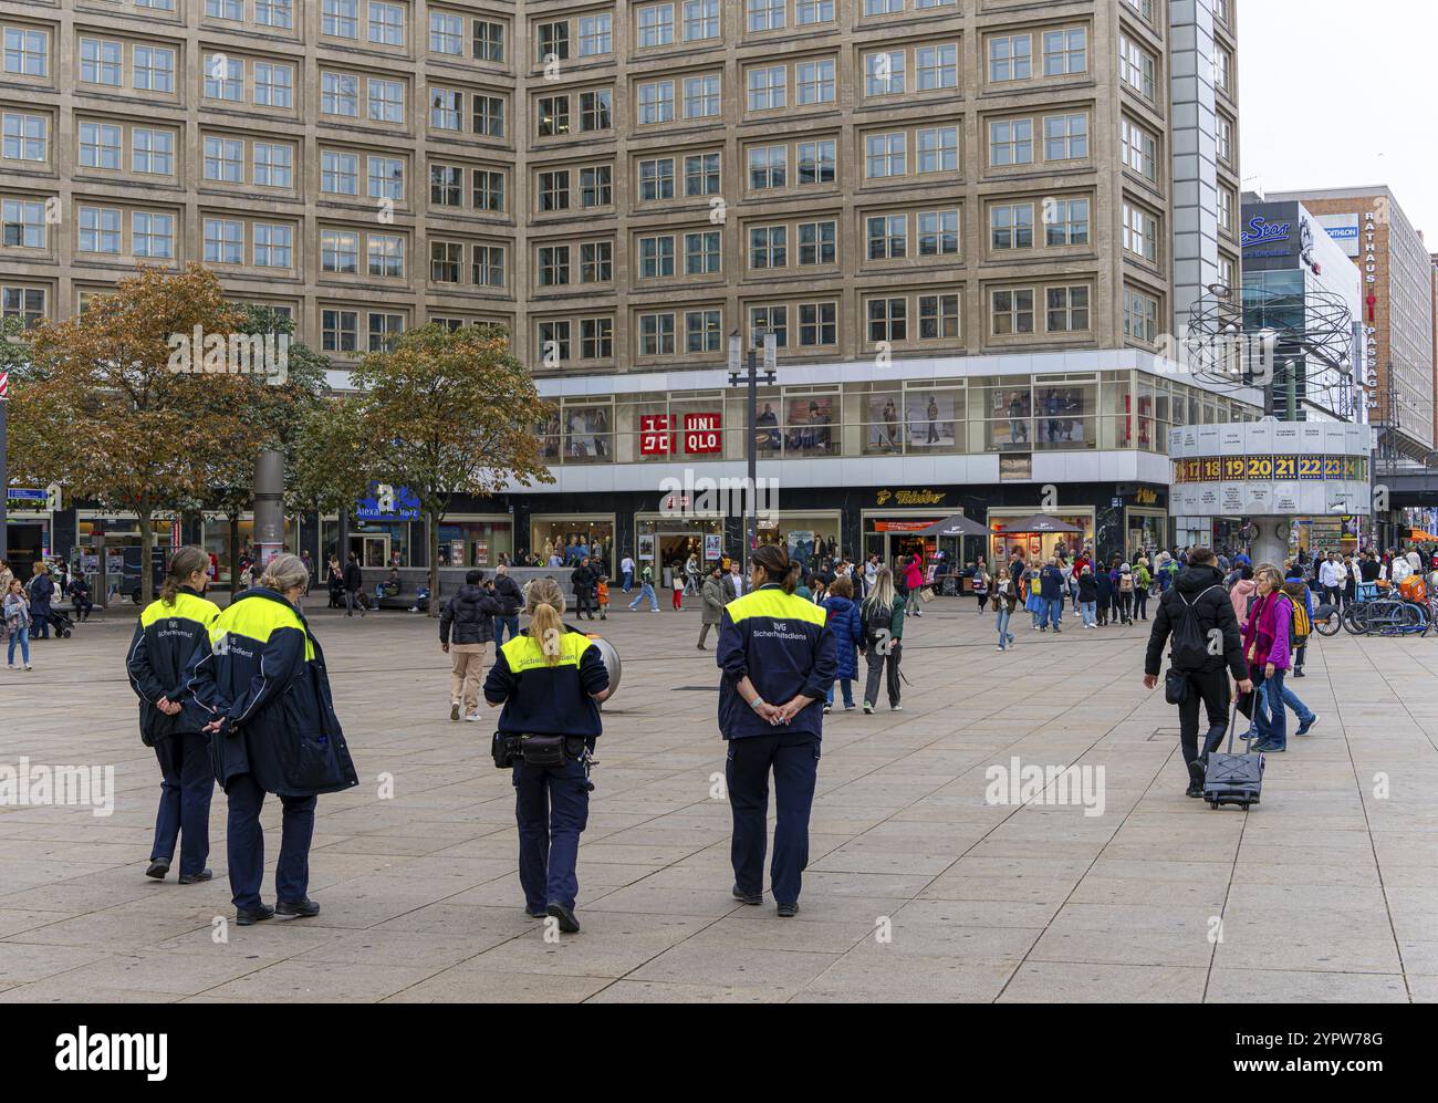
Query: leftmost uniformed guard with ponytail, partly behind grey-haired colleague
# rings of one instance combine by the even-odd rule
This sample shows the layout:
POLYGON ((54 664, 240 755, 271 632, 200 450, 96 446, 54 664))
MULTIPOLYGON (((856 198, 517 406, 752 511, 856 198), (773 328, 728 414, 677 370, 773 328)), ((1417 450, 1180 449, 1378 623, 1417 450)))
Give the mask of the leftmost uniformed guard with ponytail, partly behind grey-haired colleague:
POLYGON ((210 856, 210 798, 214 772, 210 751, 200 733, 203 718, 186 710, 188 690, 184 669, 220 607, 203 597, 210 584, 210 557, 186 546, 170 558, 160 597, 139 614, 125 667, 139 697, 139 738, 160 759, 160 813, 147 877, 164 880, 180 848, 180 883, 194 884, 213 876, 204 867, 210 856))

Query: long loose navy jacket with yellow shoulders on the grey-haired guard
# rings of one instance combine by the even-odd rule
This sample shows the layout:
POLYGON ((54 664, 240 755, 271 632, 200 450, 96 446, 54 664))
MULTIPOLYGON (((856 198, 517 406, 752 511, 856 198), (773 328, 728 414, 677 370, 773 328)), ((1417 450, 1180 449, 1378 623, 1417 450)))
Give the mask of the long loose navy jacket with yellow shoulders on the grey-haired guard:
POLYGON ((221 787, 255 775, 266 792, 311 797, 358 785, 339 728, 325 654, 298 608, 273 590, 246 590, 210 626, 190 657, 191 706, 210 733, 221 787))

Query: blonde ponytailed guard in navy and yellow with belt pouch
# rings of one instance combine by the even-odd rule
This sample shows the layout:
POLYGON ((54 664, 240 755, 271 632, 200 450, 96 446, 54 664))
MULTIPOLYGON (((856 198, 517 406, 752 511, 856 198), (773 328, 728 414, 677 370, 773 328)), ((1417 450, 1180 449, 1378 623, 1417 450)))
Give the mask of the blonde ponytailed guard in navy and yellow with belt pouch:
POLYGON ((529 627, 499 649, 485 700, 505 706, 500 736, 533 745, 513 764, 525 912, 554 916, 561 930, 574 933, 575 864, 592 788, 588 758, 600 738, 598 702, 610 696, 610 672, 592 640, 565 630, 564 604, 552 578, 526 587, 529 627))

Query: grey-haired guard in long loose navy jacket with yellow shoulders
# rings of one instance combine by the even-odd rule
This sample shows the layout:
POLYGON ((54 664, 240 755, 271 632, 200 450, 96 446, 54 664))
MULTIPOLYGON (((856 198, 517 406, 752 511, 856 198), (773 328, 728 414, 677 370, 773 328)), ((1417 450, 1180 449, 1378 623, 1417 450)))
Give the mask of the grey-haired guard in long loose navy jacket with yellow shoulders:
POLYGON ((204 732, 230 805, 226 853, 237 926, 319 915, 308 894, 316 798, 360 784, 325 653, 299 608, 303 592, 305 565, 289 552, 276 555, 255 588, 220 613, 190 660, 187 686, 213 716, 204 732), (283 805, 273 907, 260 899, 266 794, 283 805))

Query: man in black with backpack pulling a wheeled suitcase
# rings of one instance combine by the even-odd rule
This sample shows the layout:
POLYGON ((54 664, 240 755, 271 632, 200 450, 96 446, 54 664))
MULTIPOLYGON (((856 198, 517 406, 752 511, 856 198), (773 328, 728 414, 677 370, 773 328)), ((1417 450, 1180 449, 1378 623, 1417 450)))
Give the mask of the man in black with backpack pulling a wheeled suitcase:
POLYGON ((1238 682, 1240 692, 1252 690, 1238 617, 1224 590, 1224 575, 1212 548, 1191 549, 1188 567, 1179 571, 1178 580, 1159 601, 1149 634, 1149 650, 1143 659, 1143 685, 1148 689, 1159 683, 1163 644, 1171 634, 1173 646, 1165 696, 1171 705, 1178 705, 1179 742, 1189 777, 1188 795, 1202 797, 1208 755, 1228 729, 1232 699, 1228 673, 1238 682), (1199 702, 1208 710, 1208 735, 1202 754, 1198 749, 1199 702))

